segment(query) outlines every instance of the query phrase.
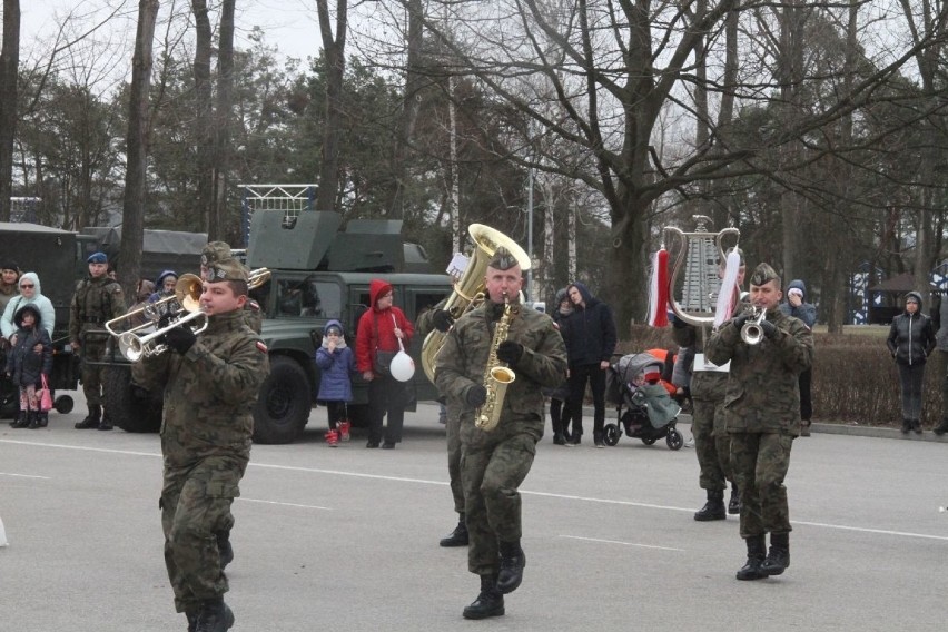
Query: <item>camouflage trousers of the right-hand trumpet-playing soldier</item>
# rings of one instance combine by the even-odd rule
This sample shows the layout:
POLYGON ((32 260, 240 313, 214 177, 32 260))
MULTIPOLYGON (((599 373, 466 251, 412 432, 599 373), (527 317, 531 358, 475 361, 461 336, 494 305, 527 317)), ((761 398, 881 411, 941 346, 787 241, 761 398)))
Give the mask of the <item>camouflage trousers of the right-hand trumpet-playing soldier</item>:
POLYGON ((731 468, 741 494, 741 537, 792 531, 783 486, 792 446, 789 434, 731 434, 731 468))

